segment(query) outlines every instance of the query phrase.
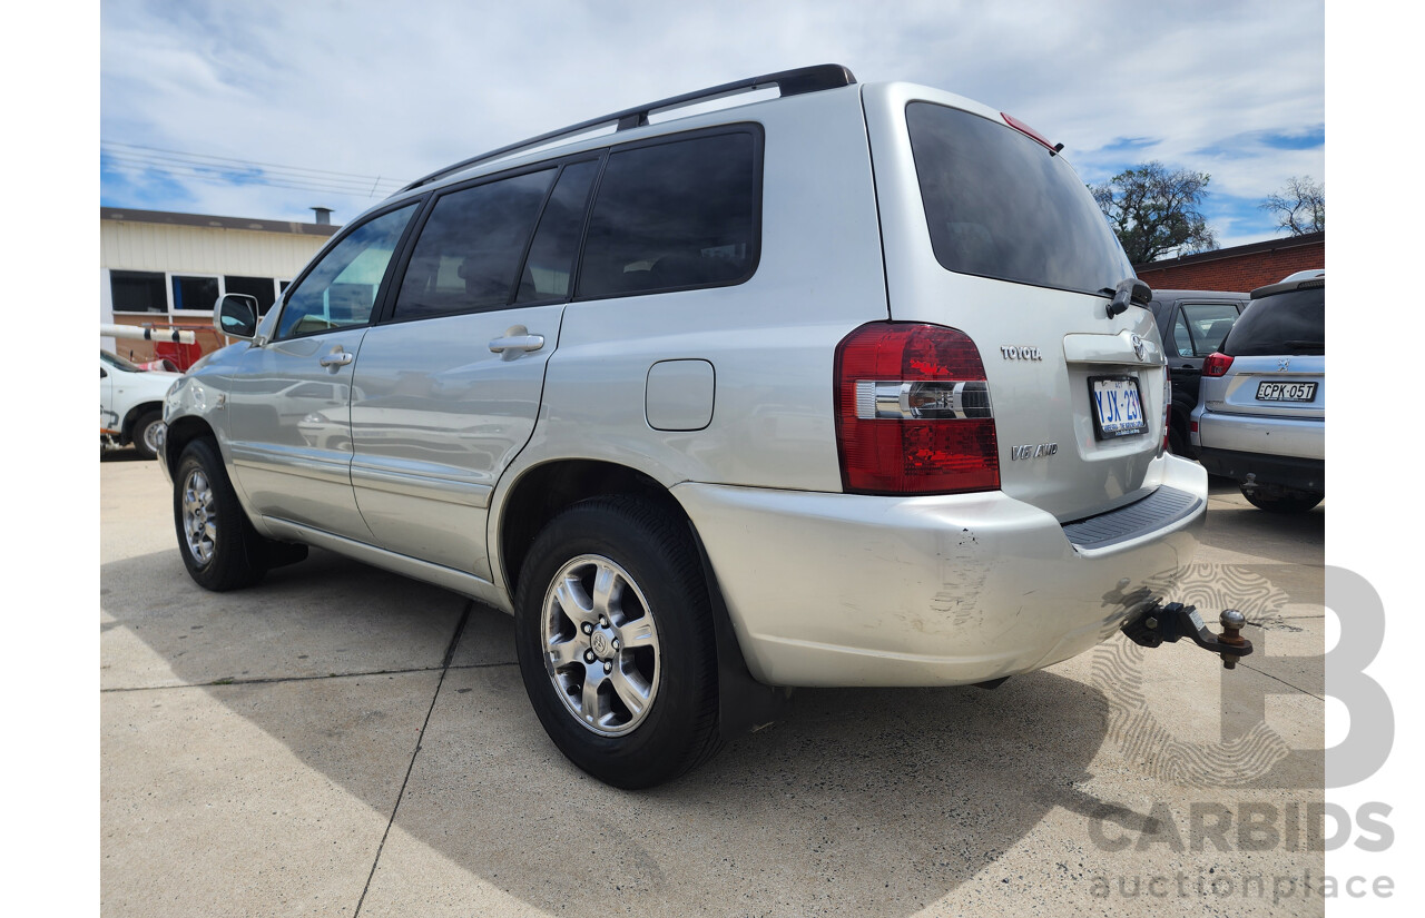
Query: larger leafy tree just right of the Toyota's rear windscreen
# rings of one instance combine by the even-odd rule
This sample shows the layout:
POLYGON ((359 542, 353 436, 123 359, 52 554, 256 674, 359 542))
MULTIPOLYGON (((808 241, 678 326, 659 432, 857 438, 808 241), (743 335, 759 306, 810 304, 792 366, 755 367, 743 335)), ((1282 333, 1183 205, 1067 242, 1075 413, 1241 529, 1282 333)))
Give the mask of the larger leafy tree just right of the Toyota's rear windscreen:
POLYGON ((1207 172, 1168 171, 1161 162, 1143 162, 1102 185, 1090 185, 1089 191, 1129 260, 1141 265, 1217 248, 1217 235, 1200 211, 1211 178, 1207 172))

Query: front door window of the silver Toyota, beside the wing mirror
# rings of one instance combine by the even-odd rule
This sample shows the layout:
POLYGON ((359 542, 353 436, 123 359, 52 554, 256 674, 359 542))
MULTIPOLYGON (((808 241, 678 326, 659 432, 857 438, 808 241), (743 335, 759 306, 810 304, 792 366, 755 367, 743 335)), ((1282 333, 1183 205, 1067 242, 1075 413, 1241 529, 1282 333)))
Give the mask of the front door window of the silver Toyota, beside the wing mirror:
POLYGON ((399 211, 382 213, 353 229, 323 255, 282 307, 276 337, 369 322, 390 255, 415 212, 416 205, 408 204, 399 211))

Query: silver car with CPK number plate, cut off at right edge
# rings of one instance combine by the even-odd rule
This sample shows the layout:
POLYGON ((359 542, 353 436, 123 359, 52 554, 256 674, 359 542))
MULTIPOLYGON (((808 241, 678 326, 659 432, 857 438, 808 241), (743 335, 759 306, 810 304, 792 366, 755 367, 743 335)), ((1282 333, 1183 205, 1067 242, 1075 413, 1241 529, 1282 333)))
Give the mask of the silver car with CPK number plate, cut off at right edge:
POLYGON ((1325 495, 1325 283, 1320 270, 1253 290, 1203 362, 1193 445, 1261 510, 1304 512, 1325 495))

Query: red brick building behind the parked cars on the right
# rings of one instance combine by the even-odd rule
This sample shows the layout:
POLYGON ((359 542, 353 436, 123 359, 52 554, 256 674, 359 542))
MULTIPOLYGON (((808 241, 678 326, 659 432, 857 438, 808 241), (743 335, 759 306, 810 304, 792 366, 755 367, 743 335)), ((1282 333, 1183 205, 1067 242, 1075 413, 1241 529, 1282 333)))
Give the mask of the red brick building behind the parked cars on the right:
POLYGON ((1153 289, 1250 292, 1292 272, 1325 266, 1327 233, 1322 231, 1134 265, 1133 270, 1153 289))

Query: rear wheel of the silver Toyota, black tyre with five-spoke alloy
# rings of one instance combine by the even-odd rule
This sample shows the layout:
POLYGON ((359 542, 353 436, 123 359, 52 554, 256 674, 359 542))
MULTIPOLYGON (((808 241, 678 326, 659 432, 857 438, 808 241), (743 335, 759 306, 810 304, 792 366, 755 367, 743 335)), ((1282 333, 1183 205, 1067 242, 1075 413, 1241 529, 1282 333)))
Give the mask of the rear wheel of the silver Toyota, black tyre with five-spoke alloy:
POLYGON ((534 713, 598 780, 651 787, 720 747, 707 584, 685 524, 656 504, 590 500, 544 527, 514 632, 534 713))

